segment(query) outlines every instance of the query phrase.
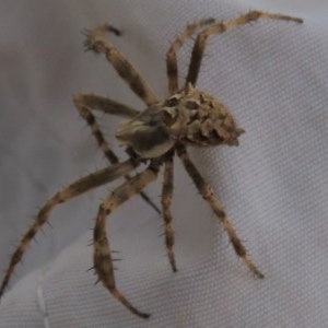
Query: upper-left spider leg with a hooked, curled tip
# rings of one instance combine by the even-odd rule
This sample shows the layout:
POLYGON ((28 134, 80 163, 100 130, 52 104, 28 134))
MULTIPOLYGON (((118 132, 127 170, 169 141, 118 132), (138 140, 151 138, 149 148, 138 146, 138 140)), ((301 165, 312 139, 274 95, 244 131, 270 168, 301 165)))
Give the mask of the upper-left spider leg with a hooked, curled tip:
MULTIPOLYGON (((130 89, 148 105, 157 103, 157 98, 150 85, 142 79, 140 73, 125 58, 125 56, 105 38, 106 32, 118 32, 113 26, 105 24, 85 32, 84 46, 86 50, 96 54, 105 54, 116 72, 130 86, 130 89)), ((117 34, 117 33, 115 33, 117 34)))

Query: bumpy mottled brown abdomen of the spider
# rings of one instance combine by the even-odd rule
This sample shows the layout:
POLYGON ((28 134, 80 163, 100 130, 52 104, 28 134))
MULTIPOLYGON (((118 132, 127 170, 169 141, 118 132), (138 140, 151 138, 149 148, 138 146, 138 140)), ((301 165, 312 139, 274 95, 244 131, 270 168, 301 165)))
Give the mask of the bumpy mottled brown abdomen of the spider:
POLYGON ((222 103, 191 84, 166 99, 163 113, 171 133, 184 143, 237 145, 245 132, 222 103))

